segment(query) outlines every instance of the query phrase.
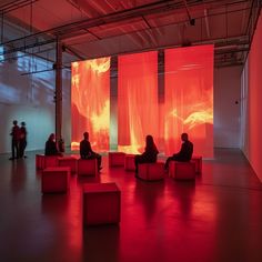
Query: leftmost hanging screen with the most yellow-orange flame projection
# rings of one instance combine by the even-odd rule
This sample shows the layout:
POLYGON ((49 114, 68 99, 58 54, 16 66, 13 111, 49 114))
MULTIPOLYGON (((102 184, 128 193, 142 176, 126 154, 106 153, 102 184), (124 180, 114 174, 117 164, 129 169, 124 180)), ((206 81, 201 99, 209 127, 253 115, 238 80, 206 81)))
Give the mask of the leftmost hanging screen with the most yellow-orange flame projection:
POLYGON ((110 58, 72 63, 72 150, 88 131, 93 150, 109 150, 110 58), (93 142, 92 142, 93 141, 93 142))

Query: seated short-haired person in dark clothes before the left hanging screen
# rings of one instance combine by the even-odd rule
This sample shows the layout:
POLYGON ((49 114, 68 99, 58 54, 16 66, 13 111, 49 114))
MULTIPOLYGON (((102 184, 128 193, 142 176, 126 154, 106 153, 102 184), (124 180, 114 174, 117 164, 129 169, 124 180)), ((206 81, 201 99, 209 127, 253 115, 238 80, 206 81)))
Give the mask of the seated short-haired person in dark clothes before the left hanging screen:
POLYGON ((97 159, 98 161, 98 170, 101 168, 102 157, 91 149, 91 144, 89 142, 89 133, 83 133, 83 140, 80 142, 80 157, 81 159, 97 159))

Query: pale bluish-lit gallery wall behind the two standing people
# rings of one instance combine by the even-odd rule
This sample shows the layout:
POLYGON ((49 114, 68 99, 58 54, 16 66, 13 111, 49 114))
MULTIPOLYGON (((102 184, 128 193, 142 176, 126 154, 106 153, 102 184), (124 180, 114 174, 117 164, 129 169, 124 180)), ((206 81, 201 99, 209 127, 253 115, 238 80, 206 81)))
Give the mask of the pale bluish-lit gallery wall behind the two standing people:
MULTIPOLYGON (((11 151, 12 121, 27 123, 27 150, 42 150, 51 132, 54 132, 54 71, 43 60, 22 54, 16 60, 0 61, 0 153, 11 151), (34 72, 34 73, 29 73, 34 72)), ((66 143, 70 143, 70 78, 63 70, 63 132, 66 143)))

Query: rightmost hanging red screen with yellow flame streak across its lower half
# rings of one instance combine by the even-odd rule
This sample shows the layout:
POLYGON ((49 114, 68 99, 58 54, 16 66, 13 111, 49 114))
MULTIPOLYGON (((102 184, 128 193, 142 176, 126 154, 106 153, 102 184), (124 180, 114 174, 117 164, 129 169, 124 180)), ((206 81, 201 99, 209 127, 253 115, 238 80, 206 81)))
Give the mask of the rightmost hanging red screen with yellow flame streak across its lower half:
POLYGON ((180 149, 188 132, 194 154, 213 155, 213 46, 164 51, 165 154, 180 149))

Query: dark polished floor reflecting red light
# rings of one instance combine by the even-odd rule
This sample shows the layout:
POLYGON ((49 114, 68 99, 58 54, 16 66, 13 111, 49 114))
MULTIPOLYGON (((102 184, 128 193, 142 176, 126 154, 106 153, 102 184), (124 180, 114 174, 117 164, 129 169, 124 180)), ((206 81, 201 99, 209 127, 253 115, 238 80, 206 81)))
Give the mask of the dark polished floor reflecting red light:
POLYGON ((82 228, 81 187, 41 194, 34 153, 0 155, 0 261, 261 262, 262 184, 239 150, 215 150, 195 183, 144 182, 108 168, 121 190, 121 223, 82 228))

